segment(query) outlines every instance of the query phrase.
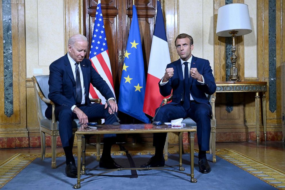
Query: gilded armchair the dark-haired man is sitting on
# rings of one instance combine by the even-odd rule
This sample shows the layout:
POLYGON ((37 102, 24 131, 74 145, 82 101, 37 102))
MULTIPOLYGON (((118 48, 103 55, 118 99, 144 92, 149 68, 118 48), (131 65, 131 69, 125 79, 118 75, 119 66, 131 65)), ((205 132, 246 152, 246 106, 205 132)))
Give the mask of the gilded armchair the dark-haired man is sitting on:
MULTIPOLYGON (((211 103, 212 106, 212 118, 211 118, 211 136, 210 136, 210 154, 213 154, 213 162, 216 162, 216 118, 215 118, 215 101, 216 101, 216 93, 213 95, 207 95, 209 102, 211 103)), ((169 98, 164 98, 163 103, 166 104, 170 100, 172 100, 172 94, 170 95, 169 98)), ((192 127, 197 127, 197 124, 195 121, 193 121, 191 118, 185 118, 182 123, 185 123, 186 126, 192 126, 192 127)), ((182 146, 183 148, 183 146, 182 146)), ((166 141, 164 145, 164 158, 165 160, 168 159, 168 135, 166 136, 166 141)))

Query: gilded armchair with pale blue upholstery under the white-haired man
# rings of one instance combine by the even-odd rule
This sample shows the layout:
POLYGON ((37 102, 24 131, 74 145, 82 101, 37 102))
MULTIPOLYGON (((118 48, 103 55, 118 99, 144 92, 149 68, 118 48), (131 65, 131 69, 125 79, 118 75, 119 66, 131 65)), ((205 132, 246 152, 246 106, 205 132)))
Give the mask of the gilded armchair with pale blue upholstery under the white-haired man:
MULTIPOLYGON (((56 137, 59 135, 58 132, 58 124, 59 122, 55 120, 55 104, 47 99, 46 97, 49 94, 49 75, 40 75, 40 76, 33 76, 32 77, 34 83, 34 90, 35 90, 35 97, 36 97, 36 108, 37 108, 37 116, 38 116, 38 124, 40 128, 40 135, 41 135, 41 160, 45 159, 45 134, 51 136, 51 168, 56 168, 56 137), (45 117, 45 110, 47 109, 47 105, 52 105, 52 119, 48 119, 45 117)), ((90 99, 92 102, 101 103, 101 99, 90 99)), ((79 120, 74 119, 72 121, 72 128, 73 128, 73 135, 76 132, 77 128, 80 127, 78 124, 79 120)), ((97 137, 98 138, 98 137, 97 137)), ((99 137, 100 138, 100 137, 99 137)), ((74 137, 73 137, 74 139, 74 137)), ((97 141, 100 139, 97 139, 97 141)), ((84 139, 85 141, 85 139, 84 139)), ((84 145, 85 150, 85 142, 82 144, 84 145)), ((97 146, 97 149, 100 147, 97 146)), ((97 150, 98 152, 98 150, 97 150)), ((97 156, 97 160, 100 159, 100 154, 97 156)))

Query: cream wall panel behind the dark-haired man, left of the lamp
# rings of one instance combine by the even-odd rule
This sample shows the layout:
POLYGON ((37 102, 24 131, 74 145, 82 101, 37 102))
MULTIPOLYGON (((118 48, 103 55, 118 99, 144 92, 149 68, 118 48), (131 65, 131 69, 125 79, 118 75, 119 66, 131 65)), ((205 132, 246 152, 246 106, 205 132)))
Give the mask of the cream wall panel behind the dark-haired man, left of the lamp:
POLYGON ((179 33, 193 37, 192 54, 209 60, 214 65, 213 1, 179 0, 179 33))

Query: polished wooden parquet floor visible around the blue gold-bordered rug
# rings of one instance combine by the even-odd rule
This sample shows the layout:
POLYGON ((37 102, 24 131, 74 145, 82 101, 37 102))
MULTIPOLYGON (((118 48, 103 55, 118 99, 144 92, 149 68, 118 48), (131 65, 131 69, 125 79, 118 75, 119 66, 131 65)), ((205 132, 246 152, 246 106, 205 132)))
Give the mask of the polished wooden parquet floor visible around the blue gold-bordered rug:
MULTIPOLYGON (((154 150, 152 143, 129 143, 124 144, 124 147, 130 151, 154 150)), ((169 145, 168 147, 169 150, 178 150, 178 145, 176 144, 169 145)), ((216 148, 235 150, 254 160, 285 172, 285 143, 281 141, 261 142, 259 146, 256 145, 256 142, 216 143, 216 148)), ((184 149, 189 149, 188 145, 184 145, 184 149)), ((198 149, 197 144, 195 144, 195 149, 198 149)), ((112 151, 117 150, 119 150, 119 146, 113 146, 112 151)), ((74 147, 73 151, 76 152, 77 148, 74 147)), ((87 146, 87 151, 95 151, 95 147, 87 146)), ((63 149, 58 147, 57 152, 63 152, 63 149)), ((41 148, 0 149, 0 164, 16 153, 41 153, 41 148)), ((51 148, 46 148, 46 153, 51 153, 51 148)))

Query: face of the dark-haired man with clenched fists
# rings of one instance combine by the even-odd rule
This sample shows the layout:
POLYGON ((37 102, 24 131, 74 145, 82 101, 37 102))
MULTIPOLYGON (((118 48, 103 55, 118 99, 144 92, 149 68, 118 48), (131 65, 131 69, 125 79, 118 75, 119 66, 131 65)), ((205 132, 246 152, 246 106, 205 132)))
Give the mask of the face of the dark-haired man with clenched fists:
POLYGON ((191 51, 194 49, 194 45, 190 45, 189 38, 182 38, 176 40, 176 50, 182 60, 187 61, 191 57, 191 51))

